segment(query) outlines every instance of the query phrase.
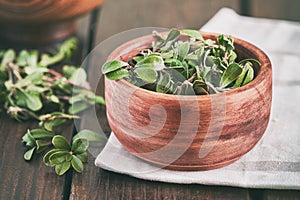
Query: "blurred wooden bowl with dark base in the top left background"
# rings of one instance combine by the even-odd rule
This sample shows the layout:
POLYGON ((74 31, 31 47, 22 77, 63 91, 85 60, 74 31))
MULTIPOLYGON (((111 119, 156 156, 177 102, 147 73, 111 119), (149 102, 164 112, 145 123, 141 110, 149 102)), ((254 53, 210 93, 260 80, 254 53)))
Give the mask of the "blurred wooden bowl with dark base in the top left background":
POLYGON ((104 0, 0 0, 0 40, 51 43, 72 35, 75 19, 104 0))

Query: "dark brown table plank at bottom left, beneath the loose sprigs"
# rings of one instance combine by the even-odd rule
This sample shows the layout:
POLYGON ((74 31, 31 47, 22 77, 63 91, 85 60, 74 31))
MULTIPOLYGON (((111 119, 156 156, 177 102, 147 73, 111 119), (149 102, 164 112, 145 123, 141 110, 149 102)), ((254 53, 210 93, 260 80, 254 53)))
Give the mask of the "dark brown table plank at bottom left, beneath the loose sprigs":
MULTIPOLYGON (((62 199, 66 176, 59 177, 53 168, 42 163, 42 156, 26 162, 26 147, 21 138, 37 122, 18 123, 7 116, 0 118, 0 199, 62 199)), ((61 129, 63 135, 72 134, 72 123, 61 129)))

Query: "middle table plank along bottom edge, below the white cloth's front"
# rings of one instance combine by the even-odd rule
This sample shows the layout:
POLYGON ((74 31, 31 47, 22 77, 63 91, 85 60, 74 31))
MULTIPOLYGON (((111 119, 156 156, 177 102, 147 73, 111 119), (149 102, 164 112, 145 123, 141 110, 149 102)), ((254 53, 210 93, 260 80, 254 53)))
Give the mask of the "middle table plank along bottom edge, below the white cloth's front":
MULTIPOLYGON (((108 133, 105 109, 98 112, 108 133)), ((70 199, 248 199, 248 190, 233 187, 180 185, 140 180, 100 169, 89 155, 82 174, 73 173, 70 199)))

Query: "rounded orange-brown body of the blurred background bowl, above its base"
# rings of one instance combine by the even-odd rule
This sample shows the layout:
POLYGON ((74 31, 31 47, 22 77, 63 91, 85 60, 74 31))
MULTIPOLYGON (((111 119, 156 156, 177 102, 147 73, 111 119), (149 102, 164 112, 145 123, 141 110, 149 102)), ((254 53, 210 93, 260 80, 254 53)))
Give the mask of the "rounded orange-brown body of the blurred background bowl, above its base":
POLYGON ((0 22, 57 22, 85 14, 103 2, 104 0, 1 0, 0 22))

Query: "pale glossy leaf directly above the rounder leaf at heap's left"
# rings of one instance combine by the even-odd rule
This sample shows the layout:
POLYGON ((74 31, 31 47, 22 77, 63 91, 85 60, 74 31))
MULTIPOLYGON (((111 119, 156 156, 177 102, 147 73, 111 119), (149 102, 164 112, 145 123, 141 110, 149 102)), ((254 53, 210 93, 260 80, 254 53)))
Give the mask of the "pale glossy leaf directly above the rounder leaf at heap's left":
POLYGON ((161 56, 152 55, 136 63, 135 67, 152 67, 154 70, 160 71, 165 68, 165 64, 161 56))

